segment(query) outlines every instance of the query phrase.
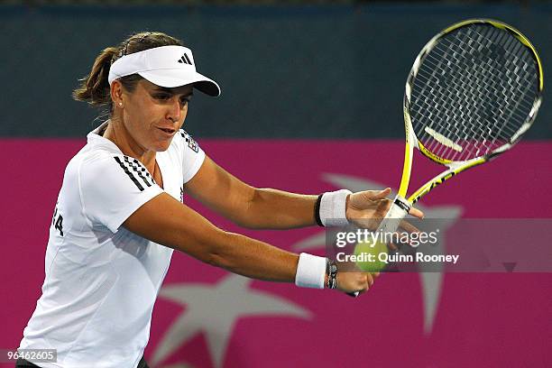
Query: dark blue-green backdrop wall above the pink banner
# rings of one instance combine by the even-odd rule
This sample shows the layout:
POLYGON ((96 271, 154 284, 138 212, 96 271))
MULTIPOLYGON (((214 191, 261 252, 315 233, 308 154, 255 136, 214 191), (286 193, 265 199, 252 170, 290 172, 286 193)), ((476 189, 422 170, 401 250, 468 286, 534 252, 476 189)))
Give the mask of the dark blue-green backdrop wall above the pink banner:
MULTIPOLYGON (((473 17, 526 33, 546 78, 546 4, 0 6, 0 136, 83 136, 98 114, 71 100, 78 78, 106 46, 159 30, 185 41, 199 69, 223 88, 217 99, 194 97, 186 124, 198 136, 399 138, 412 61, 437 31, 473 17)), ((545 89, 529 138, 552 138, 545 89)))

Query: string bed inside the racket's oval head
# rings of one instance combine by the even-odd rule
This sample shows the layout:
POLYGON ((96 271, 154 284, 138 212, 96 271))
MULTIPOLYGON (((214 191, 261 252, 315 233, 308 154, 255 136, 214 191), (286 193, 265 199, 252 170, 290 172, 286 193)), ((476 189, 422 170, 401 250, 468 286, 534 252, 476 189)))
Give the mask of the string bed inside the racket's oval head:
POLYGON ((492 152, 527 120, 536 74, 532 55, 506 31, 473 24, 451 32, 414 79, 414 131, 428 151, 448 160, 492 152))

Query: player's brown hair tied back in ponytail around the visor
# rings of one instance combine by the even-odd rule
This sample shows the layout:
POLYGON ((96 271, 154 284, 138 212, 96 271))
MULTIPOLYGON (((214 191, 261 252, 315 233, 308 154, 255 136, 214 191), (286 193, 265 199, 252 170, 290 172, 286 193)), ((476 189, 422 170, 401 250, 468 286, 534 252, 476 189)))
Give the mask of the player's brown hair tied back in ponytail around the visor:
MULTIPOLYGON (((110 106, 113 111, 110 87, 107 77, 115 60, 124 55, 161 46, 183 46, 182 41, 162 32, 134 33, 116 47, 108 47, 100 52, 94 61, 90 73, 80 80, 80 85, 73 91, 73 98, 85 101, 92 106, 110 106)), ((143 79, 138 74, 119 78, 123 87, 133 92, 138 81, 143 79)))

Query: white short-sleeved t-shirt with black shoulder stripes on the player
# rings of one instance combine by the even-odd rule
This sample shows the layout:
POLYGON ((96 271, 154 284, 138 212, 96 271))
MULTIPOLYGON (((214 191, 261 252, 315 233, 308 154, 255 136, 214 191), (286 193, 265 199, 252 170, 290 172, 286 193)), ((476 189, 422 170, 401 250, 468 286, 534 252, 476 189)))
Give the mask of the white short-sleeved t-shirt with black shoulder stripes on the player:
POLYGON ((140 161, 98 135, 106 124, 69 161, 52 218, 42 295, 20 345, 57 349, 57 363, 41 367, 137 366, 172 249, 121 225, 163 191, 181 201, 205 160, 180 130, 156 155, 161 189, 140 161))

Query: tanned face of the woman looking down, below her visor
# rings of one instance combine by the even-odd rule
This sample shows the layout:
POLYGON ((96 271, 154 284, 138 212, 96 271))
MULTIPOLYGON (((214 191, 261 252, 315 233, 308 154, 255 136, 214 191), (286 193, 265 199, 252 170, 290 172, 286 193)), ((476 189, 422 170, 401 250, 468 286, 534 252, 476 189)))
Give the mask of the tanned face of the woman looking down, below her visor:
POLYGON ((159 87, 143 79, 123 97, 123 122, 133 142, 144 152, 162 152, 178 133, 192 96, 192 86, 159 87))

